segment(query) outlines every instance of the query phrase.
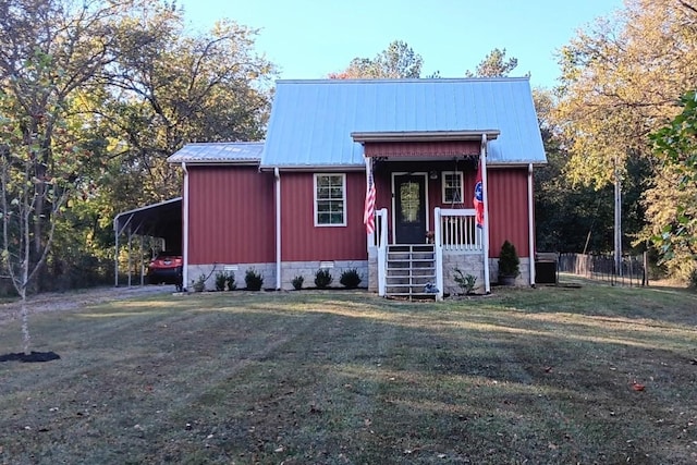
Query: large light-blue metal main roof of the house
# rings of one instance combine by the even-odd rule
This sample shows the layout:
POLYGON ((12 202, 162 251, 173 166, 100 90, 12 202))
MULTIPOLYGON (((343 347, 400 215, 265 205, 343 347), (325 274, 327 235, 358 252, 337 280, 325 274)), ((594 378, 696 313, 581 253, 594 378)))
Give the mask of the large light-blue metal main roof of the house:
POLYGON ((547 162, 527 77, 279 81, 261 168, 363 167, 355 132, 492 130, 489 163, 547 162))

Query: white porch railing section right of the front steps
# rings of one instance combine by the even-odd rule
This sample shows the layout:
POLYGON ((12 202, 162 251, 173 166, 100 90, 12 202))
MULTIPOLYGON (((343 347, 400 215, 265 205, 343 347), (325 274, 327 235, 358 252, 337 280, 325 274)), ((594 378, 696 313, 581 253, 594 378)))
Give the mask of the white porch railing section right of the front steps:
POLYGON ((482 250, 481 230, 477 228, 474 208, 436 208, 436 244, 442 244, 443 252, 482 250))

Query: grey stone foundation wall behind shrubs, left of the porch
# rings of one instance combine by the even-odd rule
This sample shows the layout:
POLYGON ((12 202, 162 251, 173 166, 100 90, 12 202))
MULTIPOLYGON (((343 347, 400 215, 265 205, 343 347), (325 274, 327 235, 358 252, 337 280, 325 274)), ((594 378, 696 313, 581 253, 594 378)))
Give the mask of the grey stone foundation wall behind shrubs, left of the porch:
MULTIPOLYGON (((305 278, 303 287, 315 287, 315 273, 319 269, 319 261, 283 261, 281 264, 281 289, 285 291, 293 290, 293 279, 302 276, 305 278)), ((204 274, 208 277, 206 280, 206 290, 216 289, 216 274, 225 271, 225 268, 236 267, 232 272, 235 273, 235 283, 237 289, 244 289, 244 277, 248 269, 254 269, 264 277, 262 289, 276 287, 276 262, 271 264, 237 264, 237 265, 189 265, 188 266, 188 283, 185 287, 192 286, 192 281, 198 280, 204 274)), ((333 278, 330 287, 343 287, 339 280, 345 270, 356 269, 360 277, 359 287, 368 286, 368 261, 367 260, 337 260, 334 267, 329 268, 333 278)), ((377 279, 376 279, 377 282, 377 279)), ((377 284, 376 284, 377 285, 377 284)), ((377 286, 376 286, 377 289, 377 286)))

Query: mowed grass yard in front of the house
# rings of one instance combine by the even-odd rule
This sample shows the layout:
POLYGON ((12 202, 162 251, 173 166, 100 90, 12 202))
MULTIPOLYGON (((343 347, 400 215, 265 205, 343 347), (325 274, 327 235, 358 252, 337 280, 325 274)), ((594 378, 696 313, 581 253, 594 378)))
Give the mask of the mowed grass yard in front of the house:
POLYGON ((61 359, 0 363, 2 464, 697 462, 682 290, 162 294, 30 325, 61 359))

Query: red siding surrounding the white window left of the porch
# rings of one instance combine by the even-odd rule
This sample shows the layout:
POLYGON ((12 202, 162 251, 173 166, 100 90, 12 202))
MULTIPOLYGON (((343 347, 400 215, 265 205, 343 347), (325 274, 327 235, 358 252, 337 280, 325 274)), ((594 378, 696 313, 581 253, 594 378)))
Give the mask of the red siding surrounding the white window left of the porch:
POLYGON ((346 225, 315 227, 314 173, 281 172, 283 261, 366 260, 365 172, 346 173, 346 225))

